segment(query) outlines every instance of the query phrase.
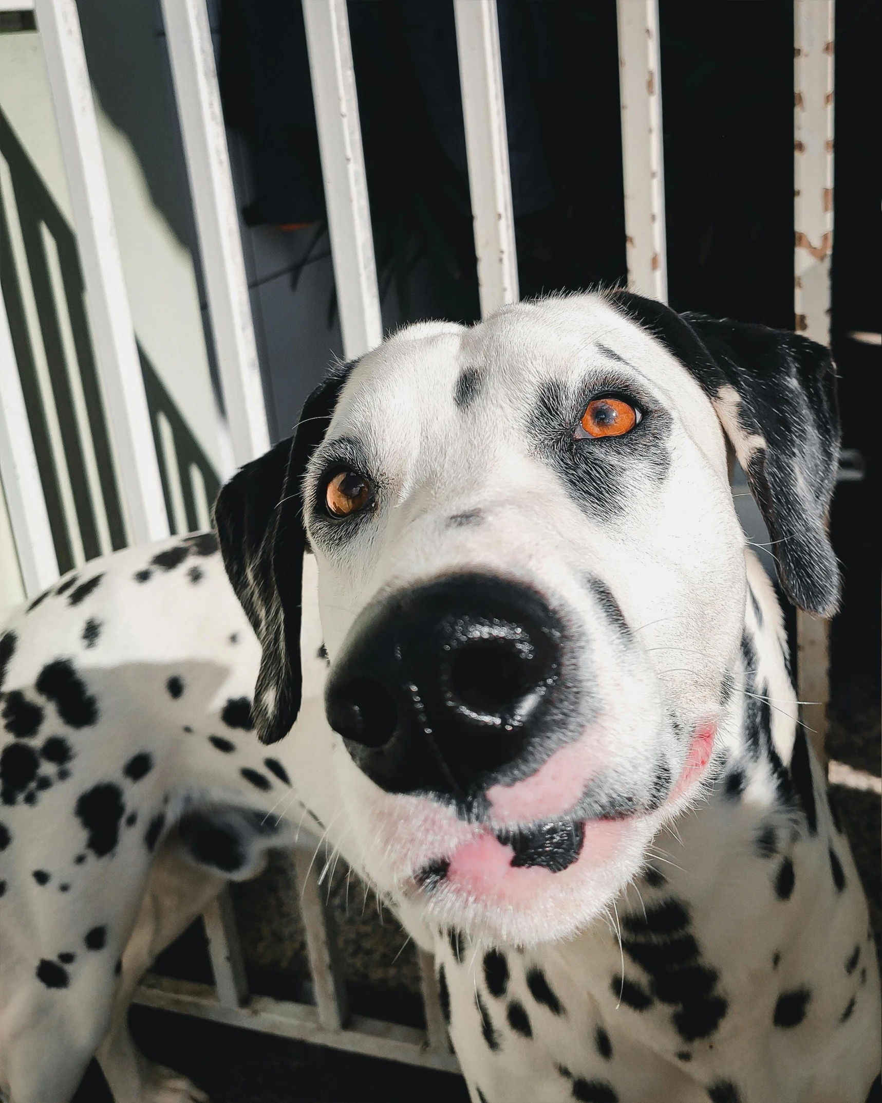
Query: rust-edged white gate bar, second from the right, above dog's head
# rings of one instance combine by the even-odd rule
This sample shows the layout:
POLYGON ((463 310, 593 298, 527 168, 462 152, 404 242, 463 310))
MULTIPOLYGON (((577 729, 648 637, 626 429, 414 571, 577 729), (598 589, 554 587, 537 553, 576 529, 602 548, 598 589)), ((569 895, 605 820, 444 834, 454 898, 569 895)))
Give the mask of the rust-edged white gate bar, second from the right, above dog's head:
POLYGON ((667 302, 658 0, 616 0, 616 12, 627 285, 667 302))

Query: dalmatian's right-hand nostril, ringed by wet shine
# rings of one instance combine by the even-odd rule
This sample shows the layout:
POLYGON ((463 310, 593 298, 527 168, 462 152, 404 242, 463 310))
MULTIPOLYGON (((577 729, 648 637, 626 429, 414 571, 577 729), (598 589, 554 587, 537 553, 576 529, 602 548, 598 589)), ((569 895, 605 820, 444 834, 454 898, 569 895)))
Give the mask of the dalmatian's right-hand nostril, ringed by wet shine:
POLYGON ((473 640, 453 653, 450 694, 476 713, 506 713, 541 681, 537 657, 512 640, 473 640))

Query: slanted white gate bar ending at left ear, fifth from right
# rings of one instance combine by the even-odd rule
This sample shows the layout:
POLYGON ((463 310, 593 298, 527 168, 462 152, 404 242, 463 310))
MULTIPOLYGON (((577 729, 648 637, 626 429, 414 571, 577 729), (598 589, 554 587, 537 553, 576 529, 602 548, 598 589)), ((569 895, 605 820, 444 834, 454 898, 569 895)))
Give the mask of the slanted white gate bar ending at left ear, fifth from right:
POLYGON ((205 0, 162 0, 162 18, 233 459, 240 467, 268 450, 269 429, 205 0))

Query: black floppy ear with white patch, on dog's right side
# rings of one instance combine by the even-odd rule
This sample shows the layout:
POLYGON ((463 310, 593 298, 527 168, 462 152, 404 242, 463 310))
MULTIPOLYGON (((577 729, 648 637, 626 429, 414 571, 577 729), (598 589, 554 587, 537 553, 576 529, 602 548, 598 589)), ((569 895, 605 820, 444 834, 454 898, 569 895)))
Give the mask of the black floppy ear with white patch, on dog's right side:
POLYGON ((839 565, 827 514, 840 431, 829 350, 765 325, 677 314, 628 291, 611 301, 658 338, 710 398, 763 514, 785 593, 800 609, 835 613, 839 565))

